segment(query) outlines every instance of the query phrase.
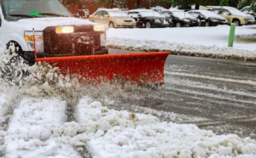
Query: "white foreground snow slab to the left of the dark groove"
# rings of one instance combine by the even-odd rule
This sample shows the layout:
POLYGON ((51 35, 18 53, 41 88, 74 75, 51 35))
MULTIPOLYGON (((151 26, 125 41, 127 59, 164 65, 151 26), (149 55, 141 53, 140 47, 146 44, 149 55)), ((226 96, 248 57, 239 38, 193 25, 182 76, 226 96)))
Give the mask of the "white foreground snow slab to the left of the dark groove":
POLYGON ((66 106, 61 99, 24 97, 14 111, 4 138, 6 157, 79 156, 71 145, 58 142, 58 129, 67 119, 66 106))

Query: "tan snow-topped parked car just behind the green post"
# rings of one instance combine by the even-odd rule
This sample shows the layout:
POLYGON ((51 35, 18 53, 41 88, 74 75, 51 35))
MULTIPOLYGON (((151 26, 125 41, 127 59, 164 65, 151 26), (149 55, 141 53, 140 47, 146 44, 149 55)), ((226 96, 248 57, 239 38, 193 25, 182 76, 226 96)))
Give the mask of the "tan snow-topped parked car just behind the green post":
POLYGON ((205 9, 212 11, 215 14, 223 16, 228 20, 228 24, 235 23, 236 25, 250 25, 255 24, 254 17, 250 14, 244 14, 237 8, 233 7, 220 7, 220 6, 207 6, 205 9))

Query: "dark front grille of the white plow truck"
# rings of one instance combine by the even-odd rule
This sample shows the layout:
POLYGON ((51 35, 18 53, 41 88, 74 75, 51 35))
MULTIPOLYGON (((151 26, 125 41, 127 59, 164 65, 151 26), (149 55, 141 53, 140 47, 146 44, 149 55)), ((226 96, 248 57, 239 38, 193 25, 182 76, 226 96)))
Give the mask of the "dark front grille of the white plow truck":
POLYGON ((75 25, 71 34, 56 34, 55 27, 44 29, 44 56, 87 55, 101 48, 100 33, 92 25, 75 25))

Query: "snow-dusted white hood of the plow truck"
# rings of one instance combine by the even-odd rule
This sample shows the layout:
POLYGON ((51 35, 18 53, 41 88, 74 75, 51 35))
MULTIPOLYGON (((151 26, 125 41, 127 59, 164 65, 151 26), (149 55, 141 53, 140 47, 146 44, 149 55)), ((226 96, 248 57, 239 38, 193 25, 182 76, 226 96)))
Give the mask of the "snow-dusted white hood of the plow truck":
POLYGON ((48 26, 61 26, 61 25, 95 25, 95 23, 88 20, 82 20, 73 17, 47 17, 47 18, 31 18, 21 19, 14 22, 24 30, 43 31, 48 26))

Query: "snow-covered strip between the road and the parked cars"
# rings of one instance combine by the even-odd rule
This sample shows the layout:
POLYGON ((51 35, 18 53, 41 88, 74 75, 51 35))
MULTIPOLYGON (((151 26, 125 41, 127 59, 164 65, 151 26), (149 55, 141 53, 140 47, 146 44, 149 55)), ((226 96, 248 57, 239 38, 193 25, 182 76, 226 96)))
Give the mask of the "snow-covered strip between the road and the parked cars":
POLYGON ((231 59, 256 59, 256 26, 236 27, 233 48, 228 47, 229 25, 217 27, 110 29, 108 46, 140 51, 231 59))

